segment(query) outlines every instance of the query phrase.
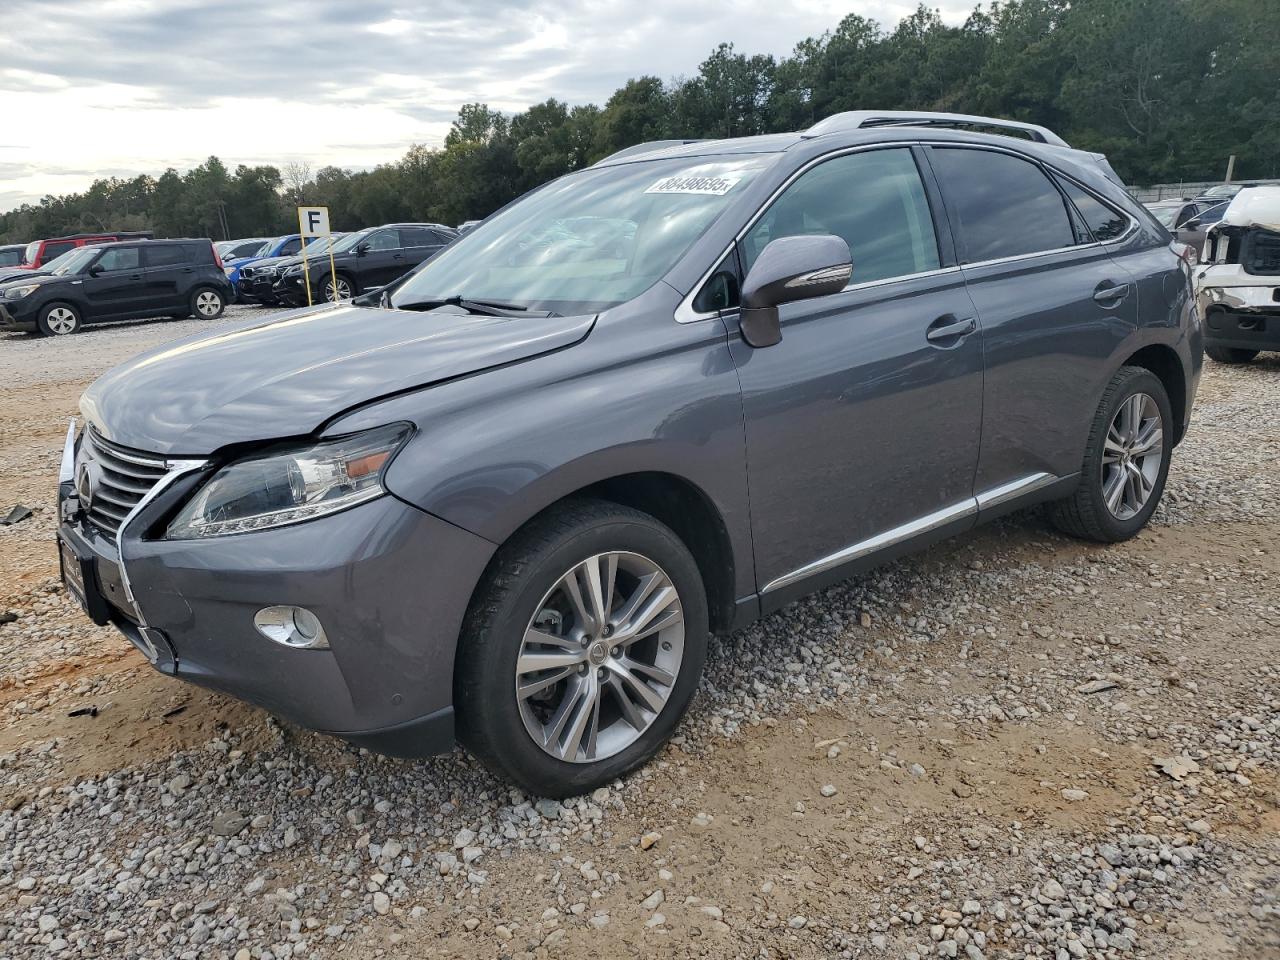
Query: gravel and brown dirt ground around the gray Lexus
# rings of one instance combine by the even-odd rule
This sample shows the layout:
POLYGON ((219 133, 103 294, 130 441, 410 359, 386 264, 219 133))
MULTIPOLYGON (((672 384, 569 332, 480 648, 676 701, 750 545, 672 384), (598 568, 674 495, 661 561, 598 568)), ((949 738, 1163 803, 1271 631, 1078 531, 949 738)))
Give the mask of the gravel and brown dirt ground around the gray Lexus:
POLYGON ((1135 540, 1030 512, 792 604, 561 804, 166 680, 72 607, 65 419, 195 326, 0 338, 0 512, 36 509, 0 527, 0 956, 1280 956, 1280 358, 1208 365, 1135 540))

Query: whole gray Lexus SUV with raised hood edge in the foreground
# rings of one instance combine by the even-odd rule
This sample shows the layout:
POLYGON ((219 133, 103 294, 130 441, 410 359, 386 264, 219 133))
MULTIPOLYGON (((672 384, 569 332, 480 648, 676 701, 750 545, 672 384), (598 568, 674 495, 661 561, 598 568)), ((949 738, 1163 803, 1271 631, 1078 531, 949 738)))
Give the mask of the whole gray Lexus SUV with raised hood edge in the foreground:
POLYGON ((575 795, 659 749, 712 634, 1029 504, 1137 534, 1201 357, 1170 234, 1043 128, 649 143, 365 306, 105 374, 63 577, 165 673, 575 795))

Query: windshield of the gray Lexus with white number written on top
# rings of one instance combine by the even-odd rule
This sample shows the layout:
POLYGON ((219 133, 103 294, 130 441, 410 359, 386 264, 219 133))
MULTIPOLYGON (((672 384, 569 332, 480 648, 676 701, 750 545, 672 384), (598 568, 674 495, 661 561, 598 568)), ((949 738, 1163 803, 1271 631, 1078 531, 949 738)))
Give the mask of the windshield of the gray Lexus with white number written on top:
POLYGON ((445 247, 390 296, 589 314, 657 283, 777 155, 678 157, 554 180, 445 247))

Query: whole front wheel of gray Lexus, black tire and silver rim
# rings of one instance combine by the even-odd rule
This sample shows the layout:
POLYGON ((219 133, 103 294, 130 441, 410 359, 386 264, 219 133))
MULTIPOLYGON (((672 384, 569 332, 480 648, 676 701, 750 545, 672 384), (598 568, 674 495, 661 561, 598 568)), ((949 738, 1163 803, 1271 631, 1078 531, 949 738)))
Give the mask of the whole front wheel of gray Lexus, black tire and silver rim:
POLYGON ((538 796, 608 783, 676 728, 707 634, 701 575, 671 529, 600 500, 553 508, 498 552, 472 599, 460 739, 538 796))

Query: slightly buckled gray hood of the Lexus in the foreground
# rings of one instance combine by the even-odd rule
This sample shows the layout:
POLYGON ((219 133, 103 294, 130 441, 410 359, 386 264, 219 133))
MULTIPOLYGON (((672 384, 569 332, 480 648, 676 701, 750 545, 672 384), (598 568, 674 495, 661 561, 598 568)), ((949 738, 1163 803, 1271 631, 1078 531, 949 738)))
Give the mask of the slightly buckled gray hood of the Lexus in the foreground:
POLYGON ((305 436, 353 407, 582 340, 594 316, 475 316, 335 306, 165 344, 99 378, 81 411, 109 440, 166 457, 305 436))

